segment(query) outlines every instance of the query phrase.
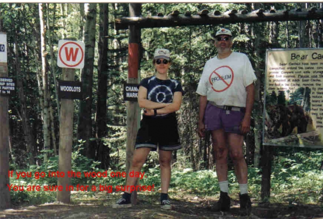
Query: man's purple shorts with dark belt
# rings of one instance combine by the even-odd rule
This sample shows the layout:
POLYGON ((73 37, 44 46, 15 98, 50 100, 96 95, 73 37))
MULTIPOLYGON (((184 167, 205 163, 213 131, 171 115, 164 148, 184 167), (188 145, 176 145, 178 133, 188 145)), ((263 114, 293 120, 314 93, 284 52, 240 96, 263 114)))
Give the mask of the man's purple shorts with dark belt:
POLYGON ((207 103, 204 114, 206 130, 223 129, 225 132, 242 135, 240 124, 244 117, 243 112, 226 111, 225 109, 207 103))

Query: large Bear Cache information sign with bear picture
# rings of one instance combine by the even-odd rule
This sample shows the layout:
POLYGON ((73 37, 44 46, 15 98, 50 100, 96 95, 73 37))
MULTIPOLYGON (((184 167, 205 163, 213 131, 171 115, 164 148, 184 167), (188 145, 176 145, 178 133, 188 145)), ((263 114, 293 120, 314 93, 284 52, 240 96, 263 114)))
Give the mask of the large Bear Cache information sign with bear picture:
POLYGON ((266 50, 263 144, 323 148, 323 49, 266 50))

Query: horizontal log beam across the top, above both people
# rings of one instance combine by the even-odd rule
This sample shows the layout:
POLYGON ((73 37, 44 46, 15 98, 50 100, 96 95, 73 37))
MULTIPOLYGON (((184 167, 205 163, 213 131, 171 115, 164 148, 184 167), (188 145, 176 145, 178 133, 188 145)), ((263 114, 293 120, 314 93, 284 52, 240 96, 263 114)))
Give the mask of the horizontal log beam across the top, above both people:
POLYGON ((185 15, 171 13, 168 16, 148 16, 148 17, 123 17, 116 19, 116 29, 128 29, 129 25, 136 25, 139 28, 153 27, 177 27, 192 25, 216 25, 232 23, 252 23, 268 21, 303 21, 303 20, 320 20, 323 19, 323 8, 309 10, 284 10, 268 11, 260 9, 251 13, 245 11, 237 13, 232 10, 229 13, 213 12, 206 14, 206 11, 199 15, 185 15))

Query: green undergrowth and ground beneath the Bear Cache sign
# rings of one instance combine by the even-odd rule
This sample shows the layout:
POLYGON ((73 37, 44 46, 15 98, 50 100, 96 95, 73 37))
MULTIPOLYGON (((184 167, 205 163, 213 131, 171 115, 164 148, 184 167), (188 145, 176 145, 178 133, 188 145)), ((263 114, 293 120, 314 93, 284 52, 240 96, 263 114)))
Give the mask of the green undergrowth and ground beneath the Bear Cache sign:
POLYGON ((277 149, 271 187, 273 200, 313 202, 323 188, 323 172, 319 170, 322 151, 311 149, 277 149), (290 150, 294 152, 291 154, 290 150), (288 192, 286 192, 288 191, 288 192))

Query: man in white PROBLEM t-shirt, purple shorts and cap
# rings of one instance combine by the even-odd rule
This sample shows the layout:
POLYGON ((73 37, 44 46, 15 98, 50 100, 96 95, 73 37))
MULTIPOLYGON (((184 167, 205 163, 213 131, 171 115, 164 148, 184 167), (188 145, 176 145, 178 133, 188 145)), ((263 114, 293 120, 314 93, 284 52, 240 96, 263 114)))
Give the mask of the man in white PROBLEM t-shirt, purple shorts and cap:
POLYGON ((240 212, 249 214, 248 169, 243 154, 243 134, 250 131, 256 76, 246 54, 231 50, 230 30, 221 28, 215 35, 218 56, 204 66, 196 92, 199 97, 198 133, 211 131, 220 199, 216 209, 228 211, 228 163, 230 154, 240 187, 240 212))

